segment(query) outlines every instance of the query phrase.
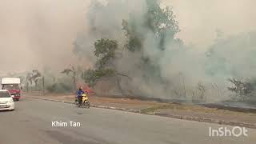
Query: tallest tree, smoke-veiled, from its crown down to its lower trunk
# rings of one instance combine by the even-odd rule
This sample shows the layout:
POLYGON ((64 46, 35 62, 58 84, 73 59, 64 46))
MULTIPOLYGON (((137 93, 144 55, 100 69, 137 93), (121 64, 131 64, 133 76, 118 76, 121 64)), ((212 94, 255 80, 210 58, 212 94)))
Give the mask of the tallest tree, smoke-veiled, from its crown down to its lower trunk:
POLYGON ((145 54, 146 47, 143 44, 149 33, 153 34, 157 42, 154 48, 159 52, 164 53, 166 42, 182 44, 180 39, 174 38, 179 32, 178 22, 170 7, 161 8, 158 0, 146 0, 146 6, 146 14, 130 14, 128 20, 122 20, 122 30, 127 37, 125 47, 133 53, 141 54, 141 65, 138 67, 143 70, 146 81, 154 79, 154 82, 164 82, 166 80, 161 78, 160 67, 145 54))

